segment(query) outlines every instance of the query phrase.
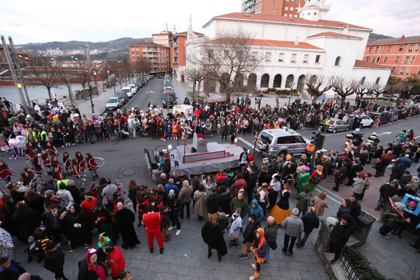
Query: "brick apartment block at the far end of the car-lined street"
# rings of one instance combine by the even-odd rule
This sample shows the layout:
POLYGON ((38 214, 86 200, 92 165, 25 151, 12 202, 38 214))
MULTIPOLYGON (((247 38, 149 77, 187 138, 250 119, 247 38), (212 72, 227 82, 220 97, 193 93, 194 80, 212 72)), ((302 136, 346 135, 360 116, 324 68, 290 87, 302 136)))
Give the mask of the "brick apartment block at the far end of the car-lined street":
POLYGON ((152 64, 150 74, 158 75, 171 72, 170 47, 153 42, 138 42, 129 44, 130 61, 149 60, 152 64))

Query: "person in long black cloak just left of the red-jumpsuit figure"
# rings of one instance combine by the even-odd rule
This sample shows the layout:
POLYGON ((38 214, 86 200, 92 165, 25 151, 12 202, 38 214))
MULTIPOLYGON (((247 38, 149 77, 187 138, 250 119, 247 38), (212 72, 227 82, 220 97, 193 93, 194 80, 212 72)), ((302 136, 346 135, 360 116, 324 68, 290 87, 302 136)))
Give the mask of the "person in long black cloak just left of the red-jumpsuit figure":
POLYGON ((136 220, 134 213, 123 206, 121 202, 117 203, 118 212, 115 213, 114 220, 120 230, 123 243, 121 247, 123 249, 133 249, 134 246, 140 244, 139 239, 137 238, 136 231, 134 230, 133 223, 136 220))

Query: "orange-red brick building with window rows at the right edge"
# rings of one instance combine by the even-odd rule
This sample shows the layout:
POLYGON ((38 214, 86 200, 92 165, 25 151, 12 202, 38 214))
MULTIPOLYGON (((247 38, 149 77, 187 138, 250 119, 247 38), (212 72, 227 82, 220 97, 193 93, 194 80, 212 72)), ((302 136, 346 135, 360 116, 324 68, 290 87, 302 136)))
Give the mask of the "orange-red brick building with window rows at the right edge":
POLYGON ((402 35, 367 43, 363 60, 391 67, 391 75, 401 80, 420 75, 420 36, 402 35))

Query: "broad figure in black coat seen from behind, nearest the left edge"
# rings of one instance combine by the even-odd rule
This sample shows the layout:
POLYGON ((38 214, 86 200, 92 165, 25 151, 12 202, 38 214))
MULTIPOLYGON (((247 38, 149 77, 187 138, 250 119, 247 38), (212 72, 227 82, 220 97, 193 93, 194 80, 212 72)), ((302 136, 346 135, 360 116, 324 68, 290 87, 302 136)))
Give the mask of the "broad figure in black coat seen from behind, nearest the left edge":
POLYGON ((17 237, 19 241, 28 242, 28 237, 32 235, 35 229, 37 215, 24 200, 16 204, 16 212, 12 216, 12 222, 17 228, 17 237))

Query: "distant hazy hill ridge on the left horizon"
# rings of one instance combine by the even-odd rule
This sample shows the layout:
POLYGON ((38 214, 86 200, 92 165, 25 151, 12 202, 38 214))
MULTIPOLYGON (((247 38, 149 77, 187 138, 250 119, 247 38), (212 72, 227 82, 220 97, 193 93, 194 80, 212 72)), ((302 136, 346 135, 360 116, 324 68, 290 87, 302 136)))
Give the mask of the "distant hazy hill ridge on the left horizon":
POLYGON ((20 47, 25 50, 33 50, 36 52, 37 50, 45 50, 45 49, 56 49, 59 48, 60 50, 82 50, 84 49, 84 45, 89 45, 90 50, 98 49, 98 50, 128 50, 127 45, 132 44, 135 42, 140 41, 149 41, 152 38, 131 38, 131 37, 124 37, 120 39, 115 39, 112 41, 107 42, 84 42, 84 41, 68 41, 68 42, 47 42, 47 43, 29 43, 29 44, 20 44, 16 45, 16 47, 20 47))

